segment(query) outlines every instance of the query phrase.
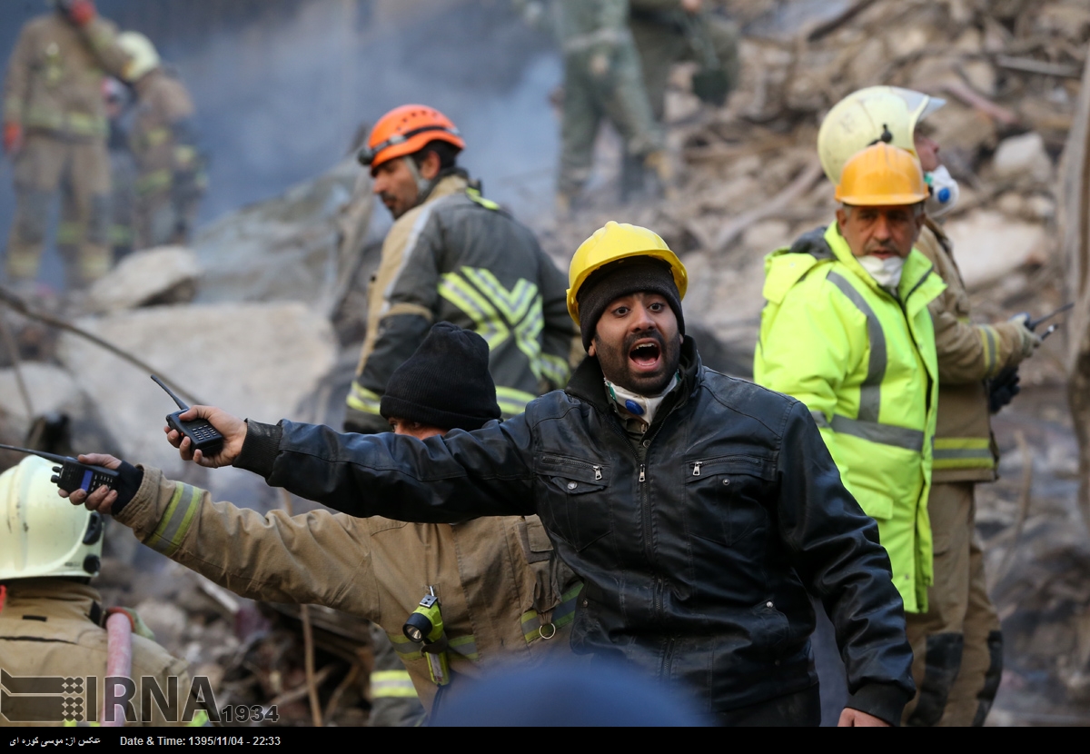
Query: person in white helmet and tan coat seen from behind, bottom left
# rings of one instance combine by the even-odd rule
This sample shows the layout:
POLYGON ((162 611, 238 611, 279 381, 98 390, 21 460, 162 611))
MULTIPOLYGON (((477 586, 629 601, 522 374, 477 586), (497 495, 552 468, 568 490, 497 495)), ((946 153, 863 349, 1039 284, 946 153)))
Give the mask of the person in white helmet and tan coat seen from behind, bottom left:
POLYGON ((185 661, 152 641, 134 611, 104 608, 90 585, 101 567, 102 516, 57 497, 52 475, 52 463, 36 455, 0 475, 0 672, 5 686, 0 727, 101 722, 107 650, 118 641, 107 640, 104 625, 118 611, 137 633, 130 640, 131 680, 138 685, 128 705, 129 723, 204 725, 204 710, 191 709, 190 720, 183 720, 192 688, 185 661), (37 692, 23 690, 27 677, 36 677, 37 692), (47 688, 57 689, 55 694, 66 681, 69 693, 24 695, 46 693, 37 677, 52 681, 56 685, 47 688), (164 693, 177 684, 177 714, 141 694, 141 685, 153 693, 152 680, 164 693))

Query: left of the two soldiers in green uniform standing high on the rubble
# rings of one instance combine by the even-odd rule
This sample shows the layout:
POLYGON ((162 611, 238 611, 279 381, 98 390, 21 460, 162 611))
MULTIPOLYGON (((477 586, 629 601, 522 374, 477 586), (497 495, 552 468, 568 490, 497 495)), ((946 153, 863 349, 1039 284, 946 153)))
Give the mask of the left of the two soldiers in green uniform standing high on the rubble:
POLYGON ((591 175, 603 117, 625 139, 628 155, 668 185, 663 132, 644 90, 628 0, 559 0, 556 10, 564 53, 558 210, 569 211, 591 175))

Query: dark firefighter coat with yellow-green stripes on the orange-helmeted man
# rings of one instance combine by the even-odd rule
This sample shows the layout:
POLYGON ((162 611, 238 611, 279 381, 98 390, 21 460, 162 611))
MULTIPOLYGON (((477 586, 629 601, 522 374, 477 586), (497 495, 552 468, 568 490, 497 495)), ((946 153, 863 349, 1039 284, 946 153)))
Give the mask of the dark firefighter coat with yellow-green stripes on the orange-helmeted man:
POLYGON ((488 343, 488 370, 505 417, 568 379, 574 336, 567 280, 533 233, 469 185, 443 178, 393 223, 367 294, 367 332, 348 396, 346 427, 387 431, 386 382, 437 321, 488 343))

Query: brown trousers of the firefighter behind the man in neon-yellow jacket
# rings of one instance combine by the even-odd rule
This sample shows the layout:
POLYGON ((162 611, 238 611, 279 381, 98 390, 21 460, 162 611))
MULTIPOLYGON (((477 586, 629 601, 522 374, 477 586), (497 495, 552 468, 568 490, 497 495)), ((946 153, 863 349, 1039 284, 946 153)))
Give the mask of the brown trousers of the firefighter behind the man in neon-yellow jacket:
POLYGON ((929 610, 906 616, 918 692, 903 719, 910 726, 981 726, 1000 688, 1003 633, 984 582, 973 484, 934 485, 928 513, 935 584, 928 589, 929 610))

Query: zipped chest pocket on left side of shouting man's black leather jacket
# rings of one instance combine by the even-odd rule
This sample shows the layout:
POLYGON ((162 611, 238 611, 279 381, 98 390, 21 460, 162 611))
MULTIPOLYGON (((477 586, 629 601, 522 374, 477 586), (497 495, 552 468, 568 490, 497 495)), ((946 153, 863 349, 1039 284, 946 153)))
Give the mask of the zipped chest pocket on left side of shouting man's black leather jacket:
POLYGON ((544 453, 534 458, 537 513, 550 533, 582 550, 609 532, 609 466, 544 453))

